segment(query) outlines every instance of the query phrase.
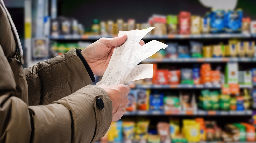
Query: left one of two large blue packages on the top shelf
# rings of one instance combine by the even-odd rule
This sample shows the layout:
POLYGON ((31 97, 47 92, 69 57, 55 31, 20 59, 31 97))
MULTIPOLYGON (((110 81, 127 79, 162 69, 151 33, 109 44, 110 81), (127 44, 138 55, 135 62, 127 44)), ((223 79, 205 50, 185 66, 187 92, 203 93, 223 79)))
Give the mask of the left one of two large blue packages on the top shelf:
POLYGON ((209 15, 212 33, 221 33, 225 30, 225 11, 215 10, 209 15))

